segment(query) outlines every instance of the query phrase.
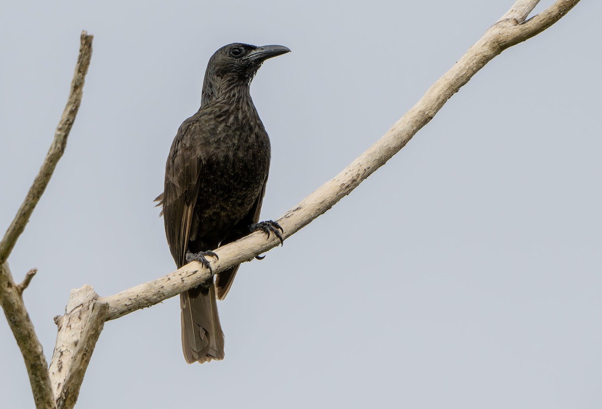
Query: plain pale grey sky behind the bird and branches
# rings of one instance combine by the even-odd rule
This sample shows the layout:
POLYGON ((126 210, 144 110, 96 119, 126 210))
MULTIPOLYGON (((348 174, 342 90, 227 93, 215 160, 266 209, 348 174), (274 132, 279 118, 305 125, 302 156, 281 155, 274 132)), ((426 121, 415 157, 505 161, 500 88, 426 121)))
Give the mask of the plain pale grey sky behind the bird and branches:
MULTIPOLYGON (((538 7, 542 10, 551 1, 538 7)), ((277 218, 380 137, 512 0, 11 2, 0 15, 10 224, 95 35, 66 153, 10 257, 48 360, 69 291, 173 271, 152 199, 222 45, 281 44, 252 96, 277 218)), ((219 304, 221 362, 187 365, 179 303, 108 322, 81 408, 602 406, 602 3, 489 63, 388 164, 219 304), (177 406, 176 406, 177 405, 177 406)), ((33 407, 0 319, 3 408, 33 407)))

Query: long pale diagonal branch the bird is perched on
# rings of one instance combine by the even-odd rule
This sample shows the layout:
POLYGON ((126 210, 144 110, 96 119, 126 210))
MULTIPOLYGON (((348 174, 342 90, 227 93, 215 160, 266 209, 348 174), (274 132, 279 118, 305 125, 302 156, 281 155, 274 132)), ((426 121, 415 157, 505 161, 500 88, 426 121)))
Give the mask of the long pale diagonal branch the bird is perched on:
MULTIPOLYGON (((486 63, 501 54, 504 49, 544 31, 579 2, 579 0, 556 1, 543 13, 524 22, 538 1, 515 2, 510 11, 492 25, 379 141, 341 173, 286 212, 278 220, 278 223, 284 227, 283 236, 288 238, 311 223, 391 159, 486 63)), ((253 233, 217 249, 219 260, 212 260, 213 271, 219 273, 232 265, 252 260, 253 257, 265 253, 278 244, 279 241, 274 236, 265 240, 264 233, 253 233)), ((107 320, 116 319, 193 288, 208 277, 209 271, 206 268, 198 262, 191 262, 157 280, 140 284, 110 297, 100 297, 99 301, 109 305, 107 320)))

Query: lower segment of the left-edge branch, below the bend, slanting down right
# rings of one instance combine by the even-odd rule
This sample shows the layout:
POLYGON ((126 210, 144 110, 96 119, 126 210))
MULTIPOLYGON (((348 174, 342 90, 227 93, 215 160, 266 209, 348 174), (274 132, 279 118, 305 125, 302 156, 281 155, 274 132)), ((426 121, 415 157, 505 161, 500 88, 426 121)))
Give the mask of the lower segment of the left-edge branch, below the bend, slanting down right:
POLYGON ((8 263, 0 265, 0 304, 23 354, 36 408, 55 409, 57 405, 42 344, 36 335, 33 322, 29 319, 21 294, 14 284, 8 263))

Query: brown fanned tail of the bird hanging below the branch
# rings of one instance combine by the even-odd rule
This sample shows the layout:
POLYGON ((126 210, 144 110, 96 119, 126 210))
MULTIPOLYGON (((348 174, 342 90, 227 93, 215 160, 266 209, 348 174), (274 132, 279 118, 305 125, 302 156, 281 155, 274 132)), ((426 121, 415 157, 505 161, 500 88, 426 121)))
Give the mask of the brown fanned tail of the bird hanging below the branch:
POLYGON ((224 334, 217 315, 216 291, 199 286, 180 294, 182 351, 188 363, 222 360, 224 334))

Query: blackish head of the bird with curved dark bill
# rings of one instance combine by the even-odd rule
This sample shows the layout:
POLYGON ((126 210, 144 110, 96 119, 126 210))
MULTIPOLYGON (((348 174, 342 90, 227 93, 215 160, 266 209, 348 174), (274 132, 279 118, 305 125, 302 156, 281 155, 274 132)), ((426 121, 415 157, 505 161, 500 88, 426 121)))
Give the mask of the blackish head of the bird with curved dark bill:
POLYGON ((207 64, 203 101, 217 97, 220 90, 249 85, 261 64, 268 58, 290 52, 285 46, 252 46, 232 43, 217 50, 207 64))

